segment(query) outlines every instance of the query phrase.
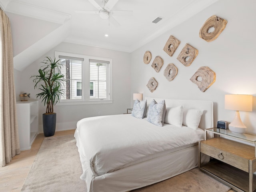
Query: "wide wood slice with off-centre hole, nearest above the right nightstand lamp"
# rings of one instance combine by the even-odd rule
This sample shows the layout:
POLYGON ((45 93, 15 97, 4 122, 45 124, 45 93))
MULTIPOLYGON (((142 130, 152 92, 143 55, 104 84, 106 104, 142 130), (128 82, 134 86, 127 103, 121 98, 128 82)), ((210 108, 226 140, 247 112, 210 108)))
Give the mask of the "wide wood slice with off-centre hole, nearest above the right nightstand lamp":
POLYGON ((205 92, 216 80, 216 74, 208 67, 200 67, 190 80, 205 92))

